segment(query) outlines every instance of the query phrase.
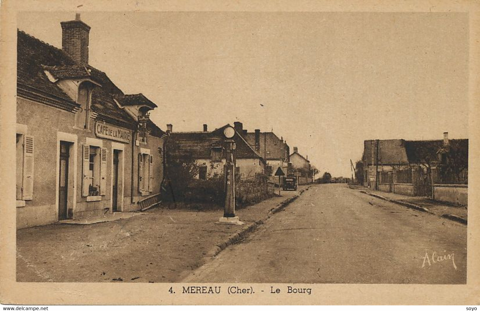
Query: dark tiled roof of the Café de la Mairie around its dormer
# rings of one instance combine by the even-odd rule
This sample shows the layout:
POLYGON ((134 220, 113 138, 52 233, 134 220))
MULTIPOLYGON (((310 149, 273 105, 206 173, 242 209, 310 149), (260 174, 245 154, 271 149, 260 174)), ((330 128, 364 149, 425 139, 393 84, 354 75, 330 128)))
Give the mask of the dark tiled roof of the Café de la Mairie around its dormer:
POLYGON ((44 68, 53 70, 51 73, 54 76, 58 75, 57 78, 72 78, 75 75, 85 77, 86 73, 83 70, 86 69, 89 79, 98 81, 101 85, 92 92, 92 110, 98 114, 97 119, 123 127, 136 126, 136 120, 113 100, 113 96, 124 94, 104 72, 92 66, 83 67, 75 63, 61 49, 50 46, 23 31, 18 31, 17 40, 17 92, 19 95, 34 98, 36 94, 40 94, 55 99, 58 107, 72 111, 72 107, 79 105, 74 103, 54 82, 48 80, 44 68))

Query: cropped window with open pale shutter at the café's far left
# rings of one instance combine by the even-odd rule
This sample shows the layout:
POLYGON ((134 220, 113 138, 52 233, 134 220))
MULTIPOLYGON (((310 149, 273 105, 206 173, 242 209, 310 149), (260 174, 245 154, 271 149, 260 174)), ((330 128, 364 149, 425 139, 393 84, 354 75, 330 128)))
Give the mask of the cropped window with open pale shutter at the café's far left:
POLYGON ((17 134, 16 199, 33 199, 34 138, 17 134))

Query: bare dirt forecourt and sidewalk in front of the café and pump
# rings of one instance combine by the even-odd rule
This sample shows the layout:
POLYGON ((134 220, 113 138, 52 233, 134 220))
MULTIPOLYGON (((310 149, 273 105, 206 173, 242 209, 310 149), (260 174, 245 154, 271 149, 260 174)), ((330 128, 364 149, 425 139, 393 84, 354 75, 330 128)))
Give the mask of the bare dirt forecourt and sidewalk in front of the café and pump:
POLYGON ((225 247, 232 236, 267 219, 272 208, 299 191, 239 210, 242 226, 215 224, 222 216, 218 210, 154 208, 92 225, 17 230, 17 281, 176 282, 202 265, 217 245, 225 247))

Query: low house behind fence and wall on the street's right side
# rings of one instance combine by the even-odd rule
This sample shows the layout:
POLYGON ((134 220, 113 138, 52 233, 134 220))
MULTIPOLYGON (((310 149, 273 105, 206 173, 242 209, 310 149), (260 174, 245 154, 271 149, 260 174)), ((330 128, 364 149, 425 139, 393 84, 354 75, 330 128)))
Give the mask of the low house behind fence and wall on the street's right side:
POLYGON ((365 140, 363 167, 372 189, 467 204, 468 139, 365 140))

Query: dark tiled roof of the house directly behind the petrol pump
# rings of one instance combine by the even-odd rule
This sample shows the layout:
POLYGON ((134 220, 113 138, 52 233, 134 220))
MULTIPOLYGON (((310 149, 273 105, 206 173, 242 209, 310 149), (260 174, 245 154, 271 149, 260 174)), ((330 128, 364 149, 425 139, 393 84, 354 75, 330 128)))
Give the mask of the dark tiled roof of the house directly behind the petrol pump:
MULTIPOLYGON (((211 132, 173 132, 168 138, 171 147, 168 153, 172 156, 190 156, 194 159, 210 159, 212 147, 222 147, 225 137, 225 125, 211 132)), ((235 157, 237 159, 264 159, 253 150, 250 145, 237 132, 233 137, 236 143, 235 157)))

